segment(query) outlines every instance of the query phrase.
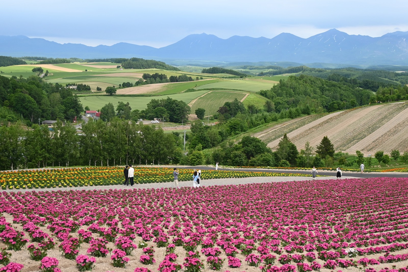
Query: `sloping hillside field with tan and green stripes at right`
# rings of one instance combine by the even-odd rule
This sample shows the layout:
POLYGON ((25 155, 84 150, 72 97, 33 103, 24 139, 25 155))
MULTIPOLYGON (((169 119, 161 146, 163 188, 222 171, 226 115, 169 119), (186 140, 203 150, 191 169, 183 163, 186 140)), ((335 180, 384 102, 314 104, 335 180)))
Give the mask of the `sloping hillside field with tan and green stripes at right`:
POLYGON ((366 156, 378 150, 385 154, 390 154, 393 149, 408 152, 408 103, 373 105, 339 111, 315 120, 313 116, 307 118, 273 129, 258 138, 273 150, 287 133, 299 150, 304 149, 307 141, 316 147, 324 136, 328 136, 336 151, 350 154, 356 150, 366 156), (299 127, 302 120, 305 124, 299 127))

